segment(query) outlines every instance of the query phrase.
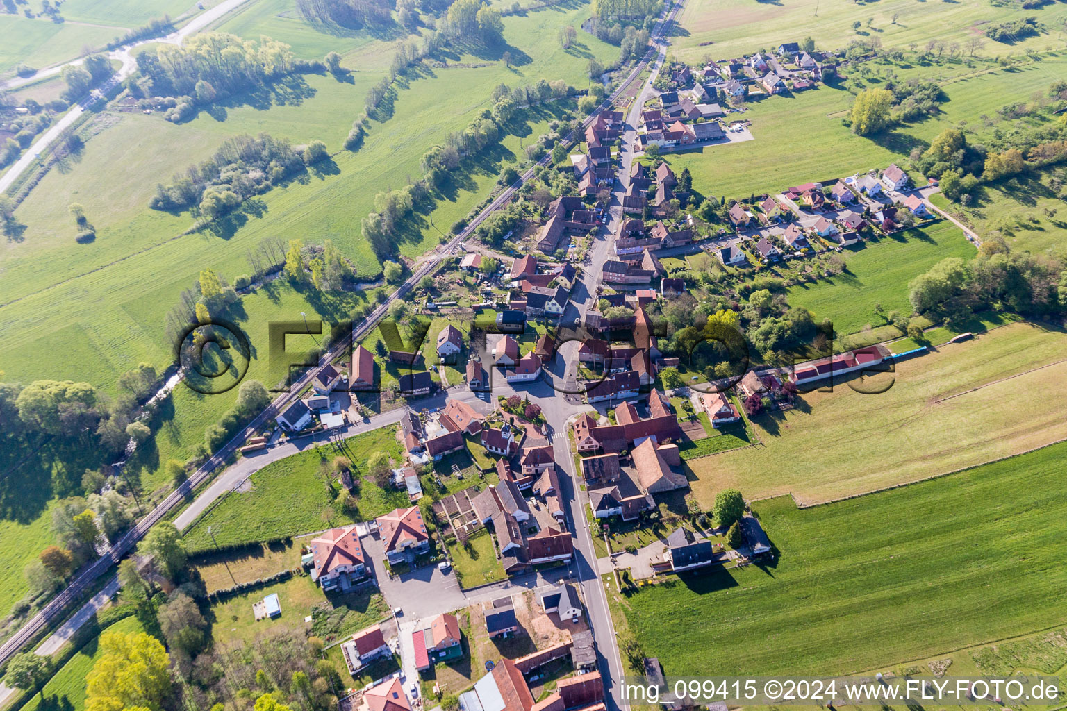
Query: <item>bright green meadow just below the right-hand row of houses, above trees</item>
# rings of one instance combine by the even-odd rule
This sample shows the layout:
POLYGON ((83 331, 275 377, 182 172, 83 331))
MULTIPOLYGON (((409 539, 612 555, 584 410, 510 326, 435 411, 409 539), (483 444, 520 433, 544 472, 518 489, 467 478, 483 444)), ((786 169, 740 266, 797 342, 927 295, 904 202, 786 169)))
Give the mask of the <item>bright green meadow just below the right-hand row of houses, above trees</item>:
POLYGON ((802 306, 815 321, 829 319, 839 336, 855 334, 873 325, 882 325, 874 305, 886 313, 911 313, 908 282, 946 257, 970 259, 974 246, 962 230, 947 221, 925 229, 911 229, 865 243, 846 252, 847 271, 812 285, 789 290, 790 306, 802 306))

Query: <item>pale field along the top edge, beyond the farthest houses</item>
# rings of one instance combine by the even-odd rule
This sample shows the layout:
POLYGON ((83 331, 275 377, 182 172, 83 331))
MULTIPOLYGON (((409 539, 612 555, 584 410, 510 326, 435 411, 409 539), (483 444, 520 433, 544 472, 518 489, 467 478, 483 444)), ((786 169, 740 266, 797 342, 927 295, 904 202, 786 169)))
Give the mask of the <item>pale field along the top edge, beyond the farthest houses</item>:
MULTIPOLYGON (((1063 46, 1063 5, 1024 10, 1021 4, 987 0, 925 2, 881 0, 877 4, 823 4, 799 0, 789 4, 757 0, 710 0, 688 3, 679 19, 673 51, 679 59, 696 63, 705 54, 715 59, 739 56, 759 48, 771 50, 783 42, 806 36, 818 47, 844 47, 854 39, 878 38, 886 47, 924 46, 928 42, 957 44, 969 52, 968 42, 982 37, 984 26, 1023 17, 1037 17, 1047 31, 1010 45, 985 41, 976 51, 985 55, 1063 46), (853 28, 860 22, 859 30, 853 28)), ((985 37, 982 37, 985 39, 985 37)))

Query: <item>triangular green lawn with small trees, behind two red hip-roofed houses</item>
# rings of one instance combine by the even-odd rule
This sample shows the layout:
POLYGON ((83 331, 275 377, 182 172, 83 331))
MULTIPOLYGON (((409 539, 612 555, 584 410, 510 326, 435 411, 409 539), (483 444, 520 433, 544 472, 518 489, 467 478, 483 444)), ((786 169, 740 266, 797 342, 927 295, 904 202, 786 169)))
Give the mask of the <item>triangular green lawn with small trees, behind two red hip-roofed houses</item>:
MULTIPOLYGON (((332 446, 323 446, 321 454, 332 459, 343 453, 363 474, 367 459, 375 452, 386 452, 399 463, 401 451, 395 433, 395 426, 375 430, 346 439, 340 453, 332 446)), ((192 552, 210 550, 212 542, 207 534, 208 527, 219 546, 227 546, 369 520, 409 505, 407 491, 382 489, 369 479, 363 479, 355 495, 359 511, 351 516, 344 513, 334 503, 340 486, 331 478, 331 490, 328 490, 319 473, 322 460, 319 451, 310 449, 267 465, 249 480, 251 490, 229 494, 196 519, 186 532, 186 546, 192 552)))

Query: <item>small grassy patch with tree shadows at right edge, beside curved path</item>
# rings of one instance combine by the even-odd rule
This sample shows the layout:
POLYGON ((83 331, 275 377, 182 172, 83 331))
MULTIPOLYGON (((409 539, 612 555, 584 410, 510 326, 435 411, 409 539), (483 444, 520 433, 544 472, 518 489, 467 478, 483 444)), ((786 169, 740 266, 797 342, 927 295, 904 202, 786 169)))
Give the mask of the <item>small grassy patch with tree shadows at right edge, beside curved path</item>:
POLYGON ((969 207, 940 193, 931 201, 983 238, 1002 237, 1015 251, 1050 252, 1067 244, 1067 204, 1049 187, 1051 177, 1049 173, 1019 176, 1018 188, 984 185, 969 207))

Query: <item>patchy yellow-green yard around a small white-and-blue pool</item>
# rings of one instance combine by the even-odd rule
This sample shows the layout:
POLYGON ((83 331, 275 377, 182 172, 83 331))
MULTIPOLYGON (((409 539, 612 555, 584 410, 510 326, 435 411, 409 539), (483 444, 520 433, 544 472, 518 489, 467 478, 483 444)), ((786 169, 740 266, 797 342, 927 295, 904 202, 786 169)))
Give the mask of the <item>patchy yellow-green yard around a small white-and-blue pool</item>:
POLYGON ((376 588, 328 598, 308 576, 296 576, 282 583, 235 595, 211 605, 211 612, 216 620, 211 635, 216 643, 223 644, 248 644, 275 626, 310 629, 313 634, 329 643, 388 616, 385 598, 376 588), (275 593, 282 614, 274 619, 256 621, 252 603, 275 593), (310 625, 304 623, 308 615, 312 616, 310 625))

